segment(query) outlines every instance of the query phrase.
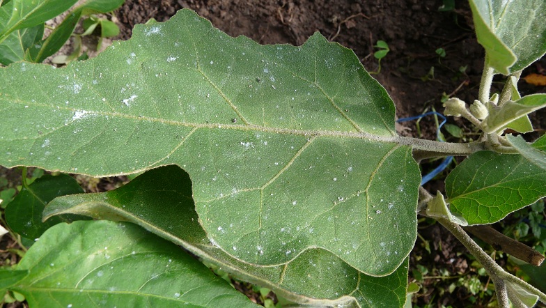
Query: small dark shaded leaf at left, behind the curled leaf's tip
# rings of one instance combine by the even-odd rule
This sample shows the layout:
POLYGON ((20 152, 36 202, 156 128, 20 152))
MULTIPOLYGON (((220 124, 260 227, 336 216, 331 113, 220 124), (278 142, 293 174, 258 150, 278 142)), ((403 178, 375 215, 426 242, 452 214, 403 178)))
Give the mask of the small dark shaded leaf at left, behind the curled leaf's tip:
POLYGON ((15 199, 6 207, 6 222, 20 235, 39 238, 50 226, 59 222, 70 222, 81 217, 55 217, 54 220, 42 222, 42 211, 45 205, 55 197, 65 194, 84 192, 74 178, 66 174, 59 176, 45 175, 35 180, 28 188, 23 187, 15 199))

